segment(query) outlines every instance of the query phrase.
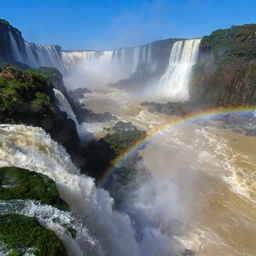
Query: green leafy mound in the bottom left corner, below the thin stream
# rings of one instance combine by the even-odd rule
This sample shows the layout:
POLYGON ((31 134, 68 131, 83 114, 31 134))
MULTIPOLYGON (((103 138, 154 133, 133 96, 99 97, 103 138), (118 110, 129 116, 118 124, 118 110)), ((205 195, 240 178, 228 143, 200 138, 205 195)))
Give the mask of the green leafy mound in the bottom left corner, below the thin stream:
POLYGON ((36 218, 19 214, 0 216, 0 241, 10 256, 21 256, 29 249, 38 256, 67 255, 53 231, 44 229, 36 218))

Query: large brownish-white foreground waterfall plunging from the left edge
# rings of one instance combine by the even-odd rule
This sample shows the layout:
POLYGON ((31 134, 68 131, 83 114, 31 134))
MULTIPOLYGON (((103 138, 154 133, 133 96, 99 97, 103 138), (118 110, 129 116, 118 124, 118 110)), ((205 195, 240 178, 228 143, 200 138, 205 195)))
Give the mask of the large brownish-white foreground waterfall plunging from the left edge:
MULTIPOLYGON (((139 255, 130 218, 113 210, 113 199, 108 192, 96 189, 92 178, 79 175, 79 169, 73 165, 66 150, 43 129, 0 125, 0 166, 20 166, 55 181, 61 198, 67 201, 82 228, 87 230, 86 236, 73 241, 84 255, 139 255)), ((37 209, 30 207, 30 214, 41 216, 37 209)), ((57 218, 58 212, 55 213, 57 218)), ((55 230, 54 226, 52 228, 55 230)))

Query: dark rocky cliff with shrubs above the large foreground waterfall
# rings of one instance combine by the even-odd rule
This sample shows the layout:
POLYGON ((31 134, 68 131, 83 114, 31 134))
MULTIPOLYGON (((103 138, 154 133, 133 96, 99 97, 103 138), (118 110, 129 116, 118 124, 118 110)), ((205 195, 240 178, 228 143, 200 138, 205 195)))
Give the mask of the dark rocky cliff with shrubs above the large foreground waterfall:
POLYGON ((0 122, 42 127, 74 154, 80 140, 76 125, 61 112, 53 84, 34 71, 3 67, 0 73, 0 122))

